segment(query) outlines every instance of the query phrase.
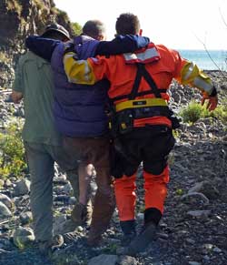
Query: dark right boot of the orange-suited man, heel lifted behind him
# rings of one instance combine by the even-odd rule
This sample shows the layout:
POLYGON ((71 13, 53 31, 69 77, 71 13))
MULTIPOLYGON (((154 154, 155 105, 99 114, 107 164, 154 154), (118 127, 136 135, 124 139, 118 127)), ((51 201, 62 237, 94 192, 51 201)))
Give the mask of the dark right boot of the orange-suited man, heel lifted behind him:
POLYGON ((147 223, 141 233, 132 240, 128 248, 125 248, 124 255, 134 256, 137 253, 146 250, 148 245, 154 239, 156 228, 157 226, 153 222, 147 223))

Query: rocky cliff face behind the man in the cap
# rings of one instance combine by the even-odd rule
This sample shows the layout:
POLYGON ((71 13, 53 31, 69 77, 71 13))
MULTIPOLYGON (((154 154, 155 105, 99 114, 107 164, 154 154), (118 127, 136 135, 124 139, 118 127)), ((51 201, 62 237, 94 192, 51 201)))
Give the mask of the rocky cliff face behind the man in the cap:
POLYGON ((72 32, 68 15, 53 0, 0 0, 0 88, 12 87, 16 61, 25 52, 25 37, 42 33, 52 22, 72 32))

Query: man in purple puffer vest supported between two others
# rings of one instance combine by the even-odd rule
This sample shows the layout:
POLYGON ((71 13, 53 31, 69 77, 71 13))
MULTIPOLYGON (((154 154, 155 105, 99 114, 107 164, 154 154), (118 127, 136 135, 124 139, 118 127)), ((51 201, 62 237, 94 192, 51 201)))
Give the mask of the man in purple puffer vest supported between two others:
MULTIPOLYGON (((68 83, 64 74, 65 48, 72 48, 79 58, 132 52, 149 43, 141 36, 118 36, 112 42, 102 42, 104 24, 98 20, 88 21, 83 34, 75 36, 70 43, 42 40, 38 36, 26 39, 26 46, 35 54, 51 61, 54 73, 54 122, 64 136, 65 150, 84 165, 93 164, 97 172, 97 190, 88 243, 96 245, 112 218, 115 201, 110 174, 110 138, 108 132, 107 90, 109 83, 102 80, 93 87, 68 83), (101 41, 101 42, 100 42, 101 41)), ((87 198, 86 198, 87 199, 87 198)), ((72 219, 77 219, 78 209, 86 214, 86 199, 79 199, 74 206, 72 219)))

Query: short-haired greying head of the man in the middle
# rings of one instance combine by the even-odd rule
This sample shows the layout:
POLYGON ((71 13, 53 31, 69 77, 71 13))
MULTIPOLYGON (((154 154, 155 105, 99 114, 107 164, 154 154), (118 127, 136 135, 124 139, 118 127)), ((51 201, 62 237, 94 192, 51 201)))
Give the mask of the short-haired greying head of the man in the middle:
POLYGON ((83 34, 86 36, 91 36, 96 40, 105 40, 105 26, 100 20, 88 20, 83 26, 83 34))

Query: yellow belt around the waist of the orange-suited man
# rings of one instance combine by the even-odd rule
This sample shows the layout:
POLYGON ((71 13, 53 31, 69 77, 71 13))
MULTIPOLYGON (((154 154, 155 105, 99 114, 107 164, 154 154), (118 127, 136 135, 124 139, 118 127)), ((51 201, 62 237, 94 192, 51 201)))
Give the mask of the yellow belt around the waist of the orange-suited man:
POLYGON ((135 100, 127 100, 115 105, 116 111, 121 111, 126 108, 136 107, 166 107, 167 103, 163 98, 143 98, 135 100), (141 104, 140 104, 141 103, 141 104))

